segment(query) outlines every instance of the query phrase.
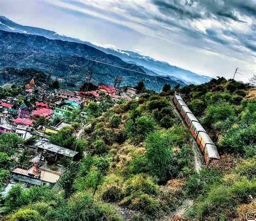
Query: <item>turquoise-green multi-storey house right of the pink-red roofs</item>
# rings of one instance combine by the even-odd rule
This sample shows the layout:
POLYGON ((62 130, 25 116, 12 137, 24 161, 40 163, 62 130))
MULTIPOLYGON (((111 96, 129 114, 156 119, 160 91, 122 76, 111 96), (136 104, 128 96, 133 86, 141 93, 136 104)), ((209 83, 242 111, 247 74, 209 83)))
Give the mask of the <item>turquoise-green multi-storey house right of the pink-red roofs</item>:
POLYGON ((55 108, 53 110, 53 117, 63 117, 64 114, 68 111, 74 109, 80 110, 80 104, 76 101, 65 100, 64 102, 56 102, 55 108))

